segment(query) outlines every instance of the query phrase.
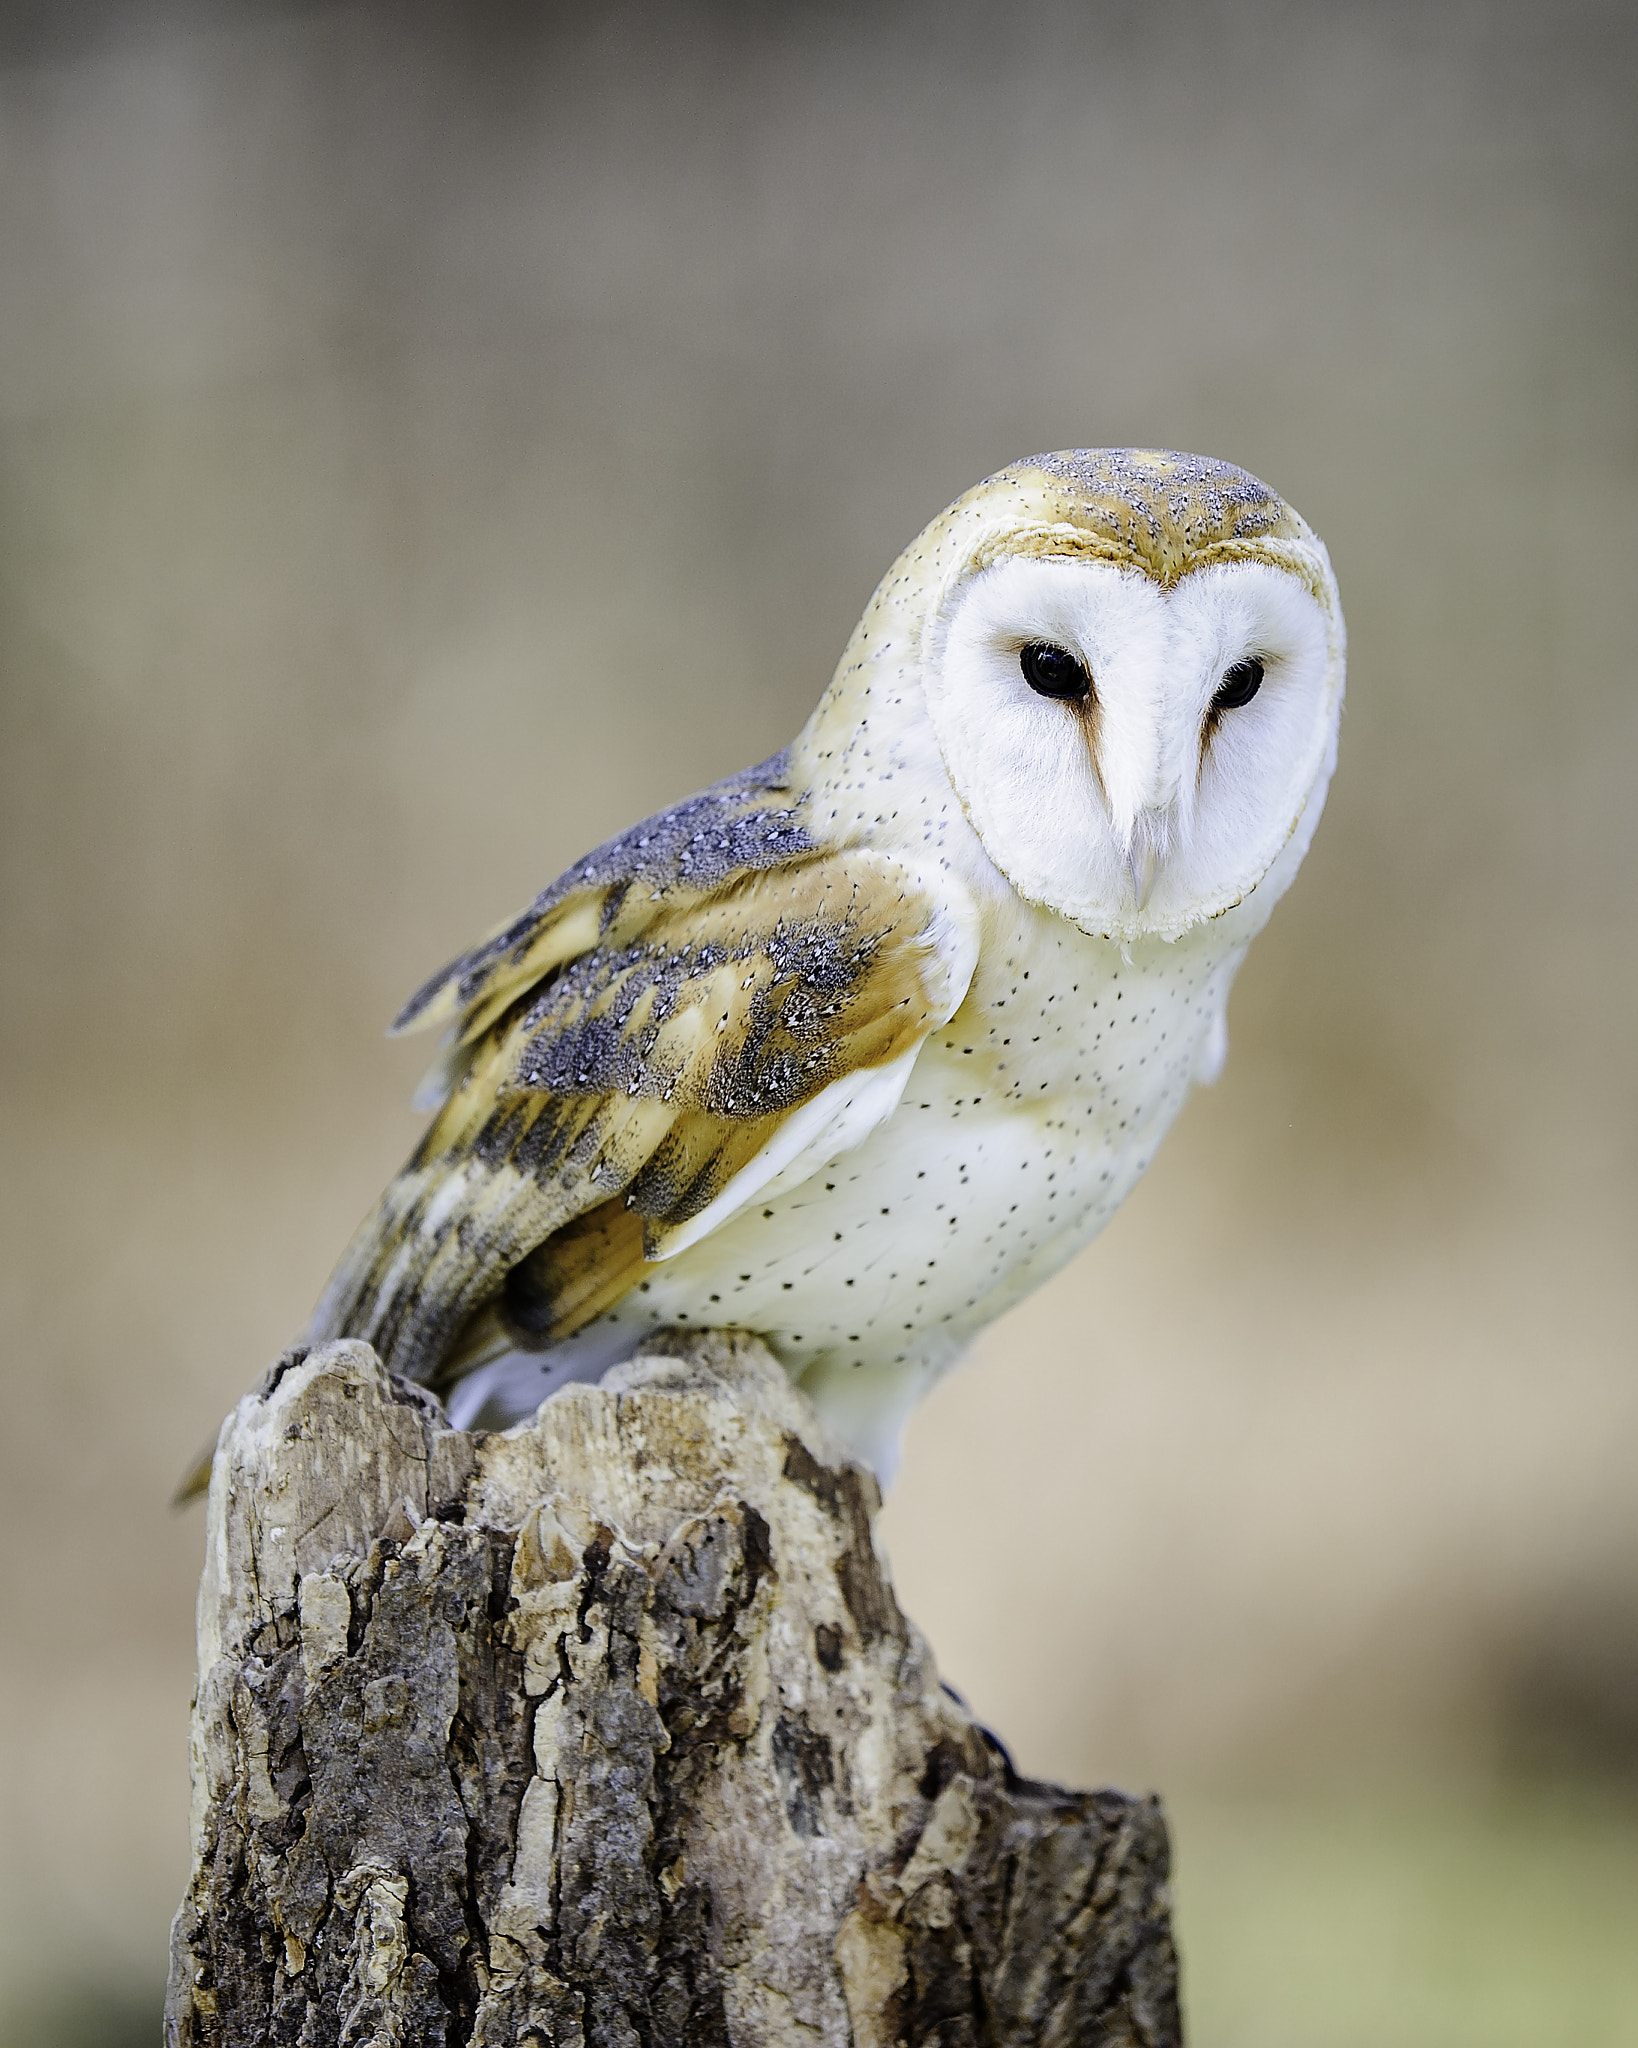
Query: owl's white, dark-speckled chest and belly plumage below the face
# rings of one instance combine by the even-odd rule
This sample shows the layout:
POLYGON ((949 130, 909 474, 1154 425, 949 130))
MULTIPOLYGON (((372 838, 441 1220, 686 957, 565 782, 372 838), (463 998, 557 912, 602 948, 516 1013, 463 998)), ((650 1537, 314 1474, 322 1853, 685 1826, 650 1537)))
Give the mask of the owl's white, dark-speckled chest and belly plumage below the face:
POLYGON ((1014 911, 860 1147, 651 1268, 561 1348, 489 1368, 487 1399, 532 1407, 655 1327, 743 1325, 887 1475, 915 1401, 1104 1227, 1220 1059, 1243 946, 1208 930, 1122 954, 1014 911))

